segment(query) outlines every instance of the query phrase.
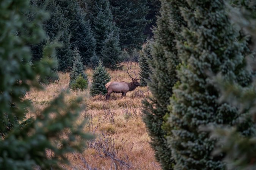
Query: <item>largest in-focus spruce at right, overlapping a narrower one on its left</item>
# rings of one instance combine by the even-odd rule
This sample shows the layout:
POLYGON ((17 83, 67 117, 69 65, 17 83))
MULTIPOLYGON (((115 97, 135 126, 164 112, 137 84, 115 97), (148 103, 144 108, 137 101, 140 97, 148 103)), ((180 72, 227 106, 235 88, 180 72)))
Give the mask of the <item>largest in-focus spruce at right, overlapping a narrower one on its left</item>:
POLYGON ((251 135, 251 121, 240 123, 244 114, 228 103, 220 103, 220 91, 209 74, 221 73, 226 80, 247 86, 251 73, 244 67, 246 39, 238 41, 239 32, 231 24, 222 0, 187 0, 183 8, 188 22, 184 42, 179 42, 181 65, 179 82, 166 115, 164 129, 175 160, 174 170, 223 170, 223 154, 212 156, 218 139, 210 138, 202 126, 236 124, 241 135, 251 135))

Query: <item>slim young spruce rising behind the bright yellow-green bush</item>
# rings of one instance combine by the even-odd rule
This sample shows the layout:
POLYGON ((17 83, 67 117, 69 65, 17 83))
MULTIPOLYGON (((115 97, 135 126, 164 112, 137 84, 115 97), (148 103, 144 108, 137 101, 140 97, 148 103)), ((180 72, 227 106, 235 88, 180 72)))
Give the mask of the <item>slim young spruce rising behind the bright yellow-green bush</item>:
POLYGON ((76 47, 75 48, 74 60, 73 60, 73 67, 72 67, 72 70, 71 70, 70 75, 69 75, 69 87, 71 87, 72 84, 76 83, 76 80, 79 77, 79 75, 81 75, 82 78, 88 82, 87 75, 84 72, 81 55, 79 54, 79 50, 76 47))

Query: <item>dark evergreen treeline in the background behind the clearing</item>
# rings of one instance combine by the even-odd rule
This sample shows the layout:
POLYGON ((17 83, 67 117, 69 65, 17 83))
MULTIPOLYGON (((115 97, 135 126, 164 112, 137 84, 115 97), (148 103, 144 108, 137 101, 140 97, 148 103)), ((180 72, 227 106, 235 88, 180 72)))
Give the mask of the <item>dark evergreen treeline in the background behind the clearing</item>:
MULTIPOLYGON (((44 8, 49 19, 43 23, 49 42, 62 43, 57 48, 58 71, 71 70, 77 47, 83 65, 103 65, 118 69, 128 53, 141 48, 148 35, 153 36, 159 0, 33 0, 31 5, 44 8)), ((29 19, 33 15, 28 14, 29 19)), ((42 58, 46 42, 31 45, 33 61, 42 58)), ((130 58, 129 58, 130 59, 130 58)))

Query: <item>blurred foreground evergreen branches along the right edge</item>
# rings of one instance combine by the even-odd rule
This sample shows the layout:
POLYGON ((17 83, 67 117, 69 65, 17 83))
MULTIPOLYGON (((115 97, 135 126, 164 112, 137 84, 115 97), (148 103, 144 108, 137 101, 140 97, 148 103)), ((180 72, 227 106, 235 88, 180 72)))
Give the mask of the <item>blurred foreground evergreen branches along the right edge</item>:
MULTIPOLYGON (((233 22, 237 23, 247 34, 252 36, 251 44, 256 44, 256 2, 243 2, 247 3, 242 5, 238 4, 236 8, 229 6, 231 11, 229 12, 229 16, 231 16, 233 22)), ((256 47, 254 46, 253 50, 255 49, 256 47)), ((248 59, 248 63, 250 64, 250 66, 248 66, 249 69, 251 67, 255 70, 255 60, 248 59)), ((239 84, 227 81, 221 76, 217 76, 215 82, 222 92, 221 101, 226 101, 233 106, 236 106, 240 111, 243 111, 243 109, 246 108, 248 115, 243 119, 243 122, 246 122, 247 119, 253 119, 255 126, 255 76, 253 79, 253 83, 249 87, 241 87, 239 84)), ((228 164, 228 166, 226 166, 227 170, 253 170, 256 168, 255 134, 251 137, 242 136, 237 132, 237 128, 239 127, 235 125, 233 127, 212 129, 212 136, 220 138, 217 143, 217 148, 215 148, 215 154, 219 154, 220 152, 225 153, 224 160, 228 164)))

